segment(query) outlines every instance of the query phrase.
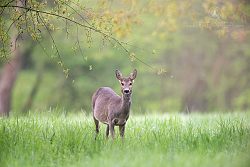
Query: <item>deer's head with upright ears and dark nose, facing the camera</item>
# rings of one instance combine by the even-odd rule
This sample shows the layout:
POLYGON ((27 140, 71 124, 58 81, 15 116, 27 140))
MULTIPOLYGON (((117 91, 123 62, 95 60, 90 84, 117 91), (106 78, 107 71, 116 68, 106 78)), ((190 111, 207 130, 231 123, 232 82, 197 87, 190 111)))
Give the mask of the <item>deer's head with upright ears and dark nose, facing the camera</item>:
POLYGON ((133 82, 137 75, 137 70, 134 69, 134 71, 130 74, 129 77, 123 77, 122 73, 119 70, 116 70, 115 74, 116 78, 119 80, 121 84, 121 92, 123 96, 130 97, 130 95, 132 94, 133 82))

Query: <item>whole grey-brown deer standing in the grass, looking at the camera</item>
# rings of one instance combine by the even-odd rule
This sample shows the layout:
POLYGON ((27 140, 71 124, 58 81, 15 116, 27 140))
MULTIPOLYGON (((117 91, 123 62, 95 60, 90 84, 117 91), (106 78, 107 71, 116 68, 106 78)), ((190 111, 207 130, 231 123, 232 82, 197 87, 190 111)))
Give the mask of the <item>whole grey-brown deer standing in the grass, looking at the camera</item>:
POLYGON ((119 126, 120 137, 124 139, 125 125, 129 118, 132 86, 137 76, 137 70, 123 77, 119 70, 115 70, 116 78, 121 85, 121 96, 115 93, 110 87, 101 87, 92 96, 92 111, 95 122, 95 140, 99 133, 99 122, 106 124, 106 138, 111 133, 115 138, 115 126, 119 126))

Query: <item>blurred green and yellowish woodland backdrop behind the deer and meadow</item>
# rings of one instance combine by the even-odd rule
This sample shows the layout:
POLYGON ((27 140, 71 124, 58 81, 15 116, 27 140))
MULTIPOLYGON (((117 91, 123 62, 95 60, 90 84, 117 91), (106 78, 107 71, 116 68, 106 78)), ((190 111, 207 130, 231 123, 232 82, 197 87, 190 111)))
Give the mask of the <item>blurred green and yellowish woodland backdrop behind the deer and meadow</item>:
MULTIPOLYGON (((9 8, 1 13, 1 47, 7 43, 13 48, 17 41, 14 51, 1 49, 0 89, 12 76, 6 71, 16 71, 13 81, 5 83, 13 84, 11 113, 51 108, 90 113, 91 97, 98 87, 109 86, 120 94, 115 69, 126 76, 134 68, 138 75, 133 113, 250 108, 248 1, 58 0, 21 5, 94 29, 28 11, 26 20, 22 15, 6 33, 13 19, 27 10, 9 8), (4 35, 8 36, 5 41, 4 35), (22 56, 15 58, 17 54, 22 56)), ((0 99, 5 96, 6 92, 0 92, 0 99)))

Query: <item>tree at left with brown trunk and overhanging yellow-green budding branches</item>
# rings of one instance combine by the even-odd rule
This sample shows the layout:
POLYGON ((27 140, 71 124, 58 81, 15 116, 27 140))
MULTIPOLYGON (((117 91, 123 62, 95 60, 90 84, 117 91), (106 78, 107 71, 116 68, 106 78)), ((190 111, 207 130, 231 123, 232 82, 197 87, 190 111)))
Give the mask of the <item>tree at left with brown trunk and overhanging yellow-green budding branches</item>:
POLYGON ((24 36, 29 36, 43 48, 41 41, 47 33, 52 41, 52 47, 55 48, 56 56, 53 59, 62 68, 66 78, 69 76, 69 69, 54 40, 53 32, 55 31, 65 30, 67 35, 72 35, 69 33, 69 28, 75 26, 77 42, 73 46, 74 50, 81 50, 78 39, 79 28, 85 32, 88 43, 92 42, 93 34, 96 34, 103 41, 119 46, 129 54, 129 51, 113 34, 126 35, 130 25, 136 22, 136 17, 129 16, 129 13, 133 11, 112 11, 108 4, 108 1, 101 1, 96 8, 87 8, 79 1, 70 0, 4 0, 1 2, 1 61, 5 64, 0 80, 0 115, 9 115, 11 90, 22 65, 22 58, 33 48, 29 47, 28 50, 20 52, 21 48, 17 46, 17 43, 21 45, 23 43, 21 38, 24 36), (11 35, 14 33, 17 35, 11 35))

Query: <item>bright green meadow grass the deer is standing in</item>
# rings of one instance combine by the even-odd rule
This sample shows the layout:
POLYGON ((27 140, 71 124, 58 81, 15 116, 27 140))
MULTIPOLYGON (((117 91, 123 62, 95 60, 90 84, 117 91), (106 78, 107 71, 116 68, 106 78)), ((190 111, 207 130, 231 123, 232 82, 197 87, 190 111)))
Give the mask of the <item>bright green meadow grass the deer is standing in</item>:
MULTIPOLYGON (((249 166, 250 117, 131 116, 125 140, 94 140, 90 116, 36 113, 0 119, 0 166, 249 166)), ((118 132, 118 129, 116 129, 118 132)))

